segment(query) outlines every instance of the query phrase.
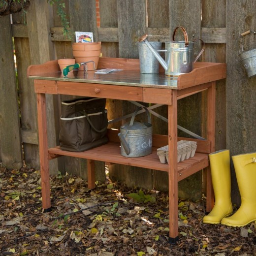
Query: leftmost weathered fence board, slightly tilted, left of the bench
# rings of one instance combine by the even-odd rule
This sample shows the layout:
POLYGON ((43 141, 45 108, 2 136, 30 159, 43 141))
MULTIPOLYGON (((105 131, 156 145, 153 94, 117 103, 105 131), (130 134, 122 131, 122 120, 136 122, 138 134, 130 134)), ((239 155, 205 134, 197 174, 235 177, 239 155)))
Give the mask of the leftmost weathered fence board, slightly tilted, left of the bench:
POLYGON ((0 16, 1 160, 8 168, 23 166, 10 16, 0 16))

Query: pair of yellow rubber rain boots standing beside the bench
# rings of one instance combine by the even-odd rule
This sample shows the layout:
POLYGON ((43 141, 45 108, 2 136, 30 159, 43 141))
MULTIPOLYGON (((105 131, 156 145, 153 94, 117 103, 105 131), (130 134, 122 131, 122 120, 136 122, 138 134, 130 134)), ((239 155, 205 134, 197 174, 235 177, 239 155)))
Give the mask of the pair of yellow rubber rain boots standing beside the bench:
POLYGON ((211 153, 209 159, 215 205, 203 223, 235 227, 256 221, 256 152, 232 157, 241 195, 241 206, 233 215, 229 150, 211 153))

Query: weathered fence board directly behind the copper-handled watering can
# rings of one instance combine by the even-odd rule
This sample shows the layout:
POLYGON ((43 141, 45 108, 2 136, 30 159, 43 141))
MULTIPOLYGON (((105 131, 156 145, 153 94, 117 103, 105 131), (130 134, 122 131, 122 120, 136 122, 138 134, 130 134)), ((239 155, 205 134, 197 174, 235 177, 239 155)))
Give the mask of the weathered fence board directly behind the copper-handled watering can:
MULTIPOLYGON (((170 34, 176 27, 182 26, 186 29, 189 41, 201 38, 201 6, 200 1, 194 0, 169 0, 170 8, 170 34)), ((177 31, 175 40, 185 41, 181 30, 177 31)), ((195 56, 200 52, 201 44, 194 44, 195 56)), ((201 59, 199 59, 201 60, 201 59)), ((178 101, 178 125, 202 135, 201 124, 201 94, 180 99, 178 101)), ((178 131, 179 136, 188 137, 188 134, 178 131)), ((197 172, 186 180, 179 182, 179 196, 188 197, 193 189, 193 199, 200 198, 202 194, 202 173, 197 172), (188 186, 190 184, 190 186, 188 186)))

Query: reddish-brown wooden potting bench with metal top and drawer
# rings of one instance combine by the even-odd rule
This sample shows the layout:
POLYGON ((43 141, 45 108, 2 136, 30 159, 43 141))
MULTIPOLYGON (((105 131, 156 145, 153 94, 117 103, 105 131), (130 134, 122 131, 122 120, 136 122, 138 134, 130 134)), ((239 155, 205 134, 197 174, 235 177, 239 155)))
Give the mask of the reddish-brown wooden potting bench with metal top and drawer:
MULTIPOLYGON (((63 78, 58 61, 31 65, 29 78, 34 80, 37 96, 38 139, 41 168, 42 207, 51 208, 49 160, 69 156, 88 160, 88 186, 95 188, 94 161, 105 161, 131 166, 144 167, 168 172, 169 177, 169 242, 178 240, 178 182, 205 168, 207 173, 207 206, 213 206, 208 154, 215 150, 215 94, 216 81, 226 77, 226 64, 195 63, 192 72, 174 79, 159 74, 141 74, 139 60, 100 58, 98 69, 119 68, 109 74, 96 74, 95 71, 73 71, 63 78), (207 137, 189 139, 197 141, 195 156, 177 163, 177 101, 193 94, 207 91, 207 137), (62 151, 60 147, 48 148, 46 94, 94 96, 166 104, 168 107, 168 135, 153 134, 153 152, 145 157, 127 158, 120 154, 120 141, 116 130, 108 130, 109 143, 85 152, 62 151), (157 149, 169 145, 169 164, 160 163, 157 149)), ((152 111, 152 109, 151 109, 152 111)))

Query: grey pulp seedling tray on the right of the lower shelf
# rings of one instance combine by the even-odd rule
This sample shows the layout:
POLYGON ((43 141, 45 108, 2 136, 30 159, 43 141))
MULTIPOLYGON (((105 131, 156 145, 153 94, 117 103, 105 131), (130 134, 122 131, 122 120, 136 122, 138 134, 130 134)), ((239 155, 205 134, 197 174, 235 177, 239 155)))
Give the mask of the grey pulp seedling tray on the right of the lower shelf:
MULTIPOLYGON (((197 142, 191 140, 180 140, 177 146, 177 162, 192 158, 197 148, 197 142)), ((169 163, 168 145, 157 149, 157 154, 161 163, 169 163)))

